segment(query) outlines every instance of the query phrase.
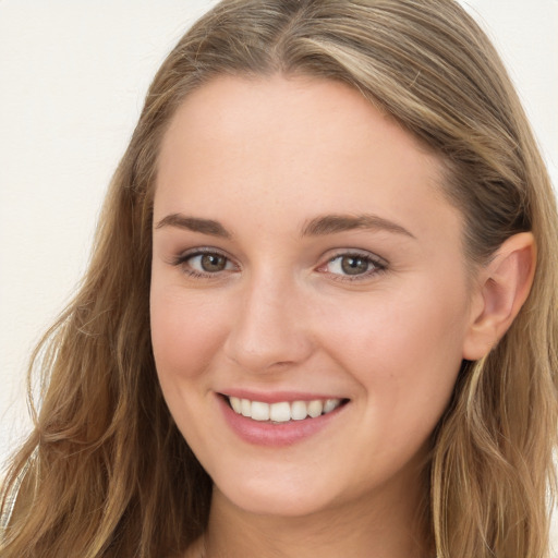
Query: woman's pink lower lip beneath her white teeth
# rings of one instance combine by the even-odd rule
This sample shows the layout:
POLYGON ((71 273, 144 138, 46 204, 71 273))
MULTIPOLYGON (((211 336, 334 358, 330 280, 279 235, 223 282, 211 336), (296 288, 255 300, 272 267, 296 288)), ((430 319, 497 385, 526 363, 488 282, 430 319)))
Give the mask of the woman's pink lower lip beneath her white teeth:
POLYGON ((347 404, 343 404, 338 407, 335 411, 316 416, 315 418, 272 424, 269 422, 253 421, 242 414, 236 414, 221 396, 218 396, 217 399, 219 400, 219 405, 221 407, 227 424, 236 436, 248 444, 268 447, 291 446, 316 435, 331 421, 335 421, 347 407, 347 404))

